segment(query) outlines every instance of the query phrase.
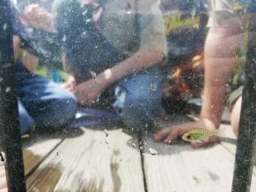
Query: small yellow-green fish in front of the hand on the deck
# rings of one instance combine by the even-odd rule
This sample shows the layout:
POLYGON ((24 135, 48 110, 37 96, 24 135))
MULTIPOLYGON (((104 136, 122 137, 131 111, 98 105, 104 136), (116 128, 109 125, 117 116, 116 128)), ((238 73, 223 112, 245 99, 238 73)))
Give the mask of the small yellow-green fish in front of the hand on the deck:
POLYGON ((211 136, 219 136, 218 130, 207 130, 207 129, 195 129, 193 131, 189 131, 183 135, 183 140, 188 142, 201 143, 201 141, 207 141, 207 139, 211 136))

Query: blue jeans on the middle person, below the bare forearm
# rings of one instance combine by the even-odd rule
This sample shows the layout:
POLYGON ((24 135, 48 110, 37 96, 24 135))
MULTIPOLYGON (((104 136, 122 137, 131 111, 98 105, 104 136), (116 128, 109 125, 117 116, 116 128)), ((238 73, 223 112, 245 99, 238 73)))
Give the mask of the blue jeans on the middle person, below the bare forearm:
POLYGON ((113 107, 120 109, 128 128, 142 130, 165 113, 161 104, 161 77, 160 69, 155 67, 121 79, 114 87, 113 107))

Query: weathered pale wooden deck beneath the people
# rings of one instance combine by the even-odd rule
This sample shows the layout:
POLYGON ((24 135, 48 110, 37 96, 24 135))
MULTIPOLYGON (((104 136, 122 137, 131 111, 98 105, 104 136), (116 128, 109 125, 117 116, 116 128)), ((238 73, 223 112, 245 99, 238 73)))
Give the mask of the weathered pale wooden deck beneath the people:
MULTIPOLYGON (((231 139, 205 149, 154 143, 147 134, 139 141, 121 128, 108 129, 108 137, 103 129, 88 128, 38 134, 24 144, 26 187, 33 192, 228 192, 236 140, 229 125, 222 126, 231 139)), ((256 192, 255 168, 251 191, 256 192)))

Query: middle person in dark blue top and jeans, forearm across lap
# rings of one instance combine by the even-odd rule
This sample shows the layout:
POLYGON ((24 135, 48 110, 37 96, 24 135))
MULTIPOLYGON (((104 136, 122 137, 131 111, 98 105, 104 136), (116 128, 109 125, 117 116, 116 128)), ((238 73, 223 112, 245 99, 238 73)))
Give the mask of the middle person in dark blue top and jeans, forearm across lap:
POLYGON ((166 37, 156 1, 81 2, 61 0, 55 7, 76 84, 69 89, 81 105, 104 108, 108 100, 105 108, 109 102, 119 108, 127 127, 145 128, 164 113, 159 64, 166 57, 166 37))

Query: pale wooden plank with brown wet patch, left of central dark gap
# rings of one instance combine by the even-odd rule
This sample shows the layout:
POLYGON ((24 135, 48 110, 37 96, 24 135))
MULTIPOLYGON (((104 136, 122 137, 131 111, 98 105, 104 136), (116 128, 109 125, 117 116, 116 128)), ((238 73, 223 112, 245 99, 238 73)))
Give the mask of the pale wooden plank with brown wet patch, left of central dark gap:
POLYGON ((143 192, 143 169, 137 138, 121 129, 83 129, 67 138, 31 177, 28 191, 143 192))

